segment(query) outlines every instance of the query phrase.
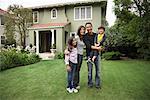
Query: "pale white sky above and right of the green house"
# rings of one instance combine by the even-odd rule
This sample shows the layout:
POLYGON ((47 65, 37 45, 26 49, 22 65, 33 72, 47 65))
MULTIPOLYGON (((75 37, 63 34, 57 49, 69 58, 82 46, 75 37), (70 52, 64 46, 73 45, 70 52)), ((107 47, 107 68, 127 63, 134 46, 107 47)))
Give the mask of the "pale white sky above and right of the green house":
MULTIPOLYGON (((40 5, 74 2, 74 1, 84 1, 84 0, 0 0, 0 8, 3 10, 7 10, 7 7, 13 4, 22 5, 23 7, 34 7, 40 5)), ((113 6, 114 6, 113 0, 108 0, 106 20, 108 21, 109 26, 112 26, 116 19, 115 14, 113 12, 113 6)))

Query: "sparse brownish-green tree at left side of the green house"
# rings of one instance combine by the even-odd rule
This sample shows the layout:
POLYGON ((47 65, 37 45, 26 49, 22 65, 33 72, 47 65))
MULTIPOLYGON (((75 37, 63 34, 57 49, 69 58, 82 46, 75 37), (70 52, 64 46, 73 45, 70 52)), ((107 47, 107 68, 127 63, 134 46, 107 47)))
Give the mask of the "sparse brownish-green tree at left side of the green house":
MULTIPOLYGON (((20 34, 20 45, 25 47, 26 43, 26 37, 28 33, 28 27, 32 23, 32 10, 28 8, 23 8, 22 6, 19 5, 10 5, 8 7, 8 15, 9 17, 6 17, 7 22, 11 22, 11 25, 13 25, 14 32, 20 34)), ((5 26, 9 26, 7 23, 5 26)), ((8 34, 9 27, 5 27, 8 34)), ((14 34, 12 32, 12 34, 14 34)), ((6 35, 7 36, 7 35, 6 35)))

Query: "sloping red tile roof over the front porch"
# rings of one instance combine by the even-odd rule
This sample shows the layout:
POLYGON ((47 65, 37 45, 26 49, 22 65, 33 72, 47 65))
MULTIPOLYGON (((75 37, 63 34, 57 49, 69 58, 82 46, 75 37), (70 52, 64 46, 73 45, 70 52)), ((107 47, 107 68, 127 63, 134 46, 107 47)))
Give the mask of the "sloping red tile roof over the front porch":
POLYGON ((29 29, 58 28, 58 27, 65 27, 68 24, 70 23, 33 24, 29 29))

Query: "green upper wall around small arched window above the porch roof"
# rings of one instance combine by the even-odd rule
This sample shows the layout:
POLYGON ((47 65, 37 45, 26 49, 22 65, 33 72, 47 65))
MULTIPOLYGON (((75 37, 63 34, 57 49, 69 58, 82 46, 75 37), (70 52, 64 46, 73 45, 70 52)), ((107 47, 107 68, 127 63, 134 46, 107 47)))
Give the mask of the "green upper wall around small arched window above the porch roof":
POLYGON ((66 23, 67 22, 64 7, 56 8, 57 9, 57 18, 56 19, 51 19, 51 10, 52 9, 53 8, 34 10, 34 11, 39 11, 39 23, 40 24, 45 24, 45 23, 66 23))

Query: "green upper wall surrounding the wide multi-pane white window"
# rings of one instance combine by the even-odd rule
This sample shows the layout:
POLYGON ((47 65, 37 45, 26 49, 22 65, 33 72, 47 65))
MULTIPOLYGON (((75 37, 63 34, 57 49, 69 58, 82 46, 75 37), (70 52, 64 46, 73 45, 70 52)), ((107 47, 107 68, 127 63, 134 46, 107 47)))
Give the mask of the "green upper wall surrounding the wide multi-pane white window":
POLYGON ((85 25, 86 22, 91 22, 93 24, 93 31, 97 32, 97 28, 101 25, 101 4, 92 5, 82 5, 82 6, 92 6, 92 20, 74 20, 74 7, 80 6, 67 6, 66 12, 69 22, 71 22, 71 32, 76 32, 80 25, 85 25))

